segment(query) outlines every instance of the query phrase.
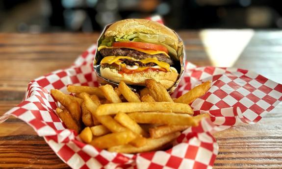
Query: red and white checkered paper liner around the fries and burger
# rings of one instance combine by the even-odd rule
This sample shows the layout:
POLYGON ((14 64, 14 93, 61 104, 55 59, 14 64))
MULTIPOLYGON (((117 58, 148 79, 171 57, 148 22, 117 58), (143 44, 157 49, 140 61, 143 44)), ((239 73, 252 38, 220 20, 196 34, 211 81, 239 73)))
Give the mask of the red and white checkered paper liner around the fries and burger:
POLYGON ((70 68, 31 81, 25 100, 0 117, 0 122, 10 115, 26 121, 74 169, 212 169, 218 153, 212 133, 241 122, 256 123, 282 100, 282 85, 262 75, 236 68, 196 67, 187 63, 172 97, 179 97, 211 80, 208 92, 191 103, 195 115, 208 113, 211 119, 183 131, 173 148, 166 151, 108 152, 82 143, 76 132, 66 129, 55 113, 59 103, 50 94, 51 89, 67 93, 70 84, 99 86, 92 67, 95 52, 93 45, 70 68))

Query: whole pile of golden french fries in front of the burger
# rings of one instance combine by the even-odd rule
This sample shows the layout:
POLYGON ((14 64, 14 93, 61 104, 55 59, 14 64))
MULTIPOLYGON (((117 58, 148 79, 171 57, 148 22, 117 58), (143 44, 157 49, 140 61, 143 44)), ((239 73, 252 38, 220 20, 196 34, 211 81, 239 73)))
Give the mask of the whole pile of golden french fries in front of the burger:
POLYGON ((146 80, 146 88, 134 93, 121 81, 119 86, 68 86, 75 96, 51 90, 62 108, 56 113, 80 139, 101 149, 139 153, 168 148, 180 131, 197 126, 202 114, 193 117, 189 103, 210 88, 207 81, 177 99, 159 82, 146 80))

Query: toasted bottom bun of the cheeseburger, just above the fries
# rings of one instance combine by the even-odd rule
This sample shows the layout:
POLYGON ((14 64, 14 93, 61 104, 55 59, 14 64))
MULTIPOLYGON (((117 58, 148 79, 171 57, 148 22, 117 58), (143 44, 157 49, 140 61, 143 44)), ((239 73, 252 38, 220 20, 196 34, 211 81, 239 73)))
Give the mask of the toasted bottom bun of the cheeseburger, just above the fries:
POLYGON ((120 82, 124 81, 131 85, 145 86, 146 79, 154 79, 165 86, 166 89, 171 88, 178 77, 176 72, 157 72, 157 71, 146 71, 146 72, 135 72, 131 74, 119 73, 115 69, 101 68, 101 75, 111 81, 120 82))

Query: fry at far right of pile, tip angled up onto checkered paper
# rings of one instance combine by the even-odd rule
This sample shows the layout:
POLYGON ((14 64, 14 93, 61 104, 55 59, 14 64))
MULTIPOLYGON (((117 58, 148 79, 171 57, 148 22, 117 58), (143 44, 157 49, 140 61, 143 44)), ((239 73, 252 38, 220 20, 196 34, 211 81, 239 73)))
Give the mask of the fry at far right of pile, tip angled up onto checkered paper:
POLYGON ((190 104, 192 103, 196 98, 199 98, 208 91, 210 88, 210 81, 206 81, 205 83, 202 83, 193 89, 191 89, 189 92, 185 93, 184 95, 178 97, 174 102, 177 103, 185 103, 190 104))

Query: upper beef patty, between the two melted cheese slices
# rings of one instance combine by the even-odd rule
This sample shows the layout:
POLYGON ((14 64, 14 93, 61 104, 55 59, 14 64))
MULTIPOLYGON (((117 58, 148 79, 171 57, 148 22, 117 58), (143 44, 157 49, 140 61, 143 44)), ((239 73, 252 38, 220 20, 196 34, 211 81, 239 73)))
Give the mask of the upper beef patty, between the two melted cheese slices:
POLYGON ((100 50, 100 53, 102 54, 103 57, 105 56, 130 56, 138 60, 156 57, 158 61, 166 62, 170 65, 173 65, 173 60, 167 57, 163 53, 151 55, 151 54, 143 53, 141 51, 137 51, 137 50, 130 49, 130 48, 103 48, 100 50))

